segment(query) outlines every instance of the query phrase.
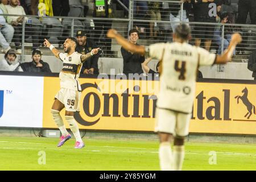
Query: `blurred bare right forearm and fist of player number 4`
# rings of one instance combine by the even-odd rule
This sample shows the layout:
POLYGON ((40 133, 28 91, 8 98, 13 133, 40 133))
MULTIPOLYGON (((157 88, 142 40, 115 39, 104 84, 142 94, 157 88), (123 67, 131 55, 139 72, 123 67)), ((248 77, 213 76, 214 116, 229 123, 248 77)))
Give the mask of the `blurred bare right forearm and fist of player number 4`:
POLYGON ((218 55, 215 64, 225 64, 232 60, 232 55, 236 49, 237 44, 242 42, 240 34, 236 33, 232 35, 232 39, 229 43, 229 47, 224 51, 224 54, 218 55))

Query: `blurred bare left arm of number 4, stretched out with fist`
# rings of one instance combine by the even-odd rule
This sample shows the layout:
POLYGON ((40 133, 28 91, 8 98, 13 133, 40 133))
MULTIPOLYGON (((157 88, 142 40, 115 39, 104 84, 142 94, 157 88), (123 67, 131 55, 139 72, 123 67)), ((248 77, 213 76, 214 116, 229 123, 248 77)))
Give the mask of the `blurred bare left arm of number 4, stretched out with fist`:
POLYGON ((135 44, 130 43, 128 40, 122 37, 122 35, 118 34, 118 32, 114 29, 110 29, 107 33, 108 38, 117 40, 117 43, 120 44, 127 51, 131 51, 134 53, 139 53, 141 55, 145 54, 144 46, 137 46, 135 44))

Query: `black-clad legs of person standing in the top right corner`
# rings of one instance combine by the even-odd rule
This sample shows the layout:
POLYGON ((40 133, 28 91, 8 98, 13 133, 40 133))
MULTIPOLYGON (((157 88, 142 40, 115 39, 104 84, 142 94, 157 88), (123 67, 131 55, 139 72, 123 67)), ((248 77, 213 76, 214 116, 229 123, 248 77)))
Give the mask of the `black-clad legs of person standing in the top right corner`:
POLYGON ((256 24, 256 1, 239 0, 237 23, 245 24, 248 13, 250 14, 251 24, 256 24))

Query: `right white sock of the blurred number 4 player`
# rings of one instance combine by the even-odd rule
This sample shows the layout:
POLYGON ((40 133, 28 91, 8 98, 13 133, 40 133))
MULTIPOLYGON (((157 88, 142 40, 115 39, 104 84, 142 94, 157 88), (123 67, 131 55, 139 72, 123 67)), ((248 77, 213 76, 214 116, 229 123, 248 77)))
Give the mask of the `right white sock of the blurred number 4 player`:
POLYGON ((185 156, 184 146, 174 146, 174 170, 181 171, 185 156))

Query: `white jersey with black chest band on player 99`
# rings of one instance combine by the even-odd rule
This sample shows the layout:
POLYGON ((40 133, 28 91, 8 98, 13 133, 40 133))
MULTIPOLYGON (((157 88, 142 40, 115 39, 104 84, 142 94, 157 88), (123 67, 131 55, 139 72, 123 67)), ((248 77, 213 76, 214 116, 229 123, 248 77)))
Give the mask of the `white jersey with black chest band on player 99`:
POLYGON ((81 54, 73 52, 72 55, 68 56, 68 53, 59 53, 59 57, 63 61, 63 68, 60 72, 60 87, 81 91, 79 84, 82 67, 81 54))

